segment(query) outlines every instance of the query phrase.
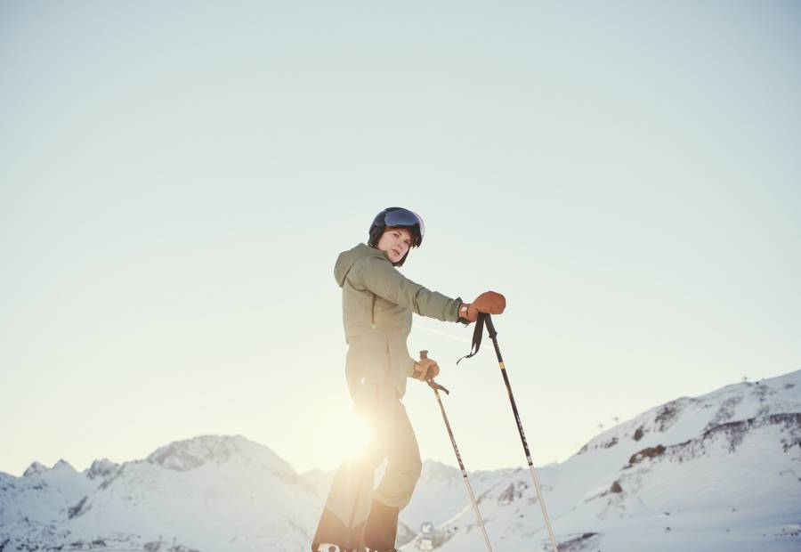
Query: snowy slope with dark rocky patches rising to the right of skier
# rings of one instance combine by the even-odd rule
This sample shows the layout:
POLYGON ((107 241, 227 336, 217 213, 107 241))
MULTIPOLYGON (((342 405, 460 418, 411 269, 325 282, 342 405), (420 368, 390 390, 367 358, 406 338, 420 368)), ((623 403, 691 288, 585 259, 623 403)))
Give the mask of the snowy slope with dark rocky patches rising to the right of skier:
MULTIPOLYGON (((801 371, 668 402, 538 476, 564 549, 801 549, 801 371)), ((471 481, 497 552, 547 549, 528 469, 471 481)), ((418 488, 402 518, 418 527, 417 503, 440 495, 418 488)), ((443 552, 486 549, 472 508, 438 536, 443 552)))

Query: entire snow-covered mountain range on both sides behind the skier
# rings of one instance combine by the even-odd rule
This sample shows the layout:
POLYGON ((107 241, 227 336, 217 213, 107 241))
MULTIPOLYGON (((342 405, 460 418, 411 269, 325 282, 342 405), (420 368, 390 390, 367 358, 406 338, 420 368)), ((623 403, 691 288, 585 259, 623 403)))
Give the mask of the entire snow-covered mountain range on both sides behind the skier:
MULTIPOLYGON (((82 473, 34 462, 0 473, 0 552, 306 550, 331 476, 298 475, 239 435, 82 473)), ((496 552, 550 549, 528 469, 469 476, 496 552)), ((799 550, 801 370, 668 402, 538 476, 562 552, 799 550)), ((424 522, 441 552, 486 549, 454 467, 425 462, 401 549, 417 549, 424 522)))

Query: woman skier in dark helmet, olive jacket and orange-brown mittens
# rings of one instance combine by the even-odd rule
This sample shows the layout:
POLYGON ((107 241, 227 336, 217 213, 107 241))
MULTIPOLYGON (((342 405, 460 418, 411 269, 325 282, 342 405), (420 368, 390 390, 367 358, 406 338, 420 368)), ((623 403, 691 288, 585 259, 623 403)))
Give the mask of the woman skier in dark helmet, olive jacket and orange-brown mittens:
POLYGON ((440 372, 436 361, 415 361, 406 345, 412 313, 440 321, 470 323, 478 313, 500 314, 504 296, 487 291, 472 304, 451 299, 405 278, 410 248, 423 243, 423 219, 402 207, 381 211, 368 245, 340 253, 334 276, 342 288, 345 377, 356 411, 368 418, 368 451, 346 459, 334 476, 312 552, 392 552, 398 514, 409 504, 423 467, 417 439, 401 403, 407 377, 427 380, 440 372), (387 460, 373 489, 376 467, 387 460))

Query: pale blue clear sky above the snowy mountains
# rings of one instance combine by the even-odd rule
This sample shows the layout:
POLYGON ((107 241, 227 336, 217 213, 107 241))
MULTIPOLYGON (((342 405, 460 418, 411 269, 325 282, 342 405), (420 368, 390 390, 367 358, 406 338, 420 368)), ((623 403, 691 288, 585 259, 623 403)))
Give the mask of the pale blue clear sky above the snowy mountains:
MULTIPOLYGON (((801 369, 801 8, 675 4, 0 3, 0 471, 198 434, 336 467, 333 264, 393 205, 409 278, 506 294, 538 464, 801 369)), ((491 347, 416 325, 467 467, 524 465, 491 347)))

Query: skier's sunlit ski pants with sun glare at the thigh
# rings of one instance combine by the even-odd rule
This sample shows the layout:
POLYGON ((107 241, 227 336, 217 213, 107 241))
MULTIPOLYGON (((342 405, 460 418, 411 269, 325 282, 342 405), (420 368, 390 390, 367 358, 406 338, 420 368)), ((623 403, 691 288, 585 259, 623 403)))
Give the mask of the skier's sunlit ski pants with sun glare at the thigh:
MULTIPOLYGON (((371 517, 370 524, 374 524, 376 512, 370 516, 374 500, 380 503, 377 507, 381 509, 389 507, 400 511, 406 507, 423 467, 415 432, 394 387, 389 384, 373 386, 352 396, 357 412, 370 425, 368 448, 359 457, 346 459, 337 470, 315 543, 348 544, 342 541, 344 529, 351 535, 350 546, 354 546, 368 517, 371 517), (374 489, 376 467, 384 459, 387 460, 386 470, 374 489)), ((393 526, 386 529, 394 536, 397 518, 388 523, 393 526)))

